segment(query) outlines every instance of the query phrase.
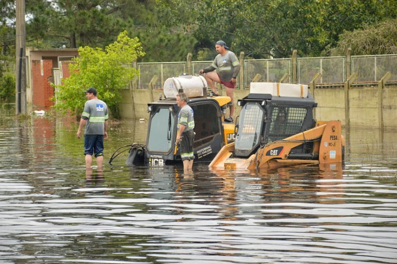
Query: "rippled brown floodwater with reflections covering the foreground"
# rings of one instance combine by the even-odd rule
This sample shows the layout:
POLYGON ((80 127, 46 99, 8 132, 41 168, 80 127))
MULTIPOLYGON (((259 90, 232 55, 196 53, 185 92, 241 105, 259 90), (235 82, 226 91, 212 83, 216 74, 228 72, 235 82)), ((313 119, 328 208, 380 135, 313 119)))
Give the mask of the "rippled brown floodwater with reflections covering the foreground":
MULTIPOLYGON (((73 119, 0 125, 0 262, 396 263, 396 131, 345 131, 343 166, 183 174, 86 172, 73 119)), ((112 124, 105 160, 145 126, 112 124)))

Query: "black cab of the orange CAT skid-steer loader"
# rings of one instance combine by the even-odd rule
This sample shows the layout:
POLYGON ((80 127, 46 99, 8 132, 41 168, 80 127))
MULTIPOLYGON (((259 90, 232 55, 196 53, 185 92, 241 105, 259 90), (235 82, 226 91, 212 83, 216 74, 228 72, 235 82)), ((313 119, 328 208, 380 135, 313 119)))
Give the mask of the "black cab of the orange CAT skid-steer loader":
MULTIPOLYGON (((282 140, 314 127, 313 108, 317 106, 308 97, 272 96, 250 93, 241 100, 234 156, 249 157, 260 147, 282 140)), ((303 145, 296 152, 307 152, 311 146, 303 145), (305 149, 303 149, 305 148, 305 149)))

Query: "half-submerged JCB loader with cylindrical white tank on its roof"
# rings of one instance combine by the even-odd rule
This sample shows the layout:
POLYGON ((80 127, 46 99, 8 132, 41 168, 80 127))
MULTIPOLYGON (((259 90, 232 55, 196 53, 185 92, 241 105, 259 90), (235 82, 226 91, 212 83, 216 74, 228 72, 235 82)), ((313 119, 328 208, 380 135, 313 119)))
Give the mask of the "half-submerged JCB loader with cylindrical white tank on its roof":
POLYGON ((149 120, 146 144, 133 143, 120 147, 109 160, 112 161, 124 151, 129 151, 127 165, 182 164, 179 146, 176 144, 177 123, 180 108, 176 97, 183 90, 192 107, 195 120, 194 162, 211 162, 221 148, 234 141, 234 123, 224 122, 229 96, 212 97, 207 94, 207 82, 202 76, 182 74, 170 77, 164 82, 165 99, 147 104, 149 120))

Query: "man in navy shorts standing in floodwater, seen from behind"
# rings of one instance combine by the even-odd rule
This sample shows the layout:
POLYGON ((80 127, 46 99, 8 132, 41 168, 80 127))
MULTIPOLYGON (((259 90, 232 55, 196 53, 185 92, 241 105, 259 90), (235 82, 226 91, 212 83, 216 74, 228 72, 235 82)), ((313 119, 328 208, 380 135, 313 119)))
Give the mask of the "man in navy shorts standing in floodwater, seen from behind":
POLYGON ((91 169, 92 155, 96 158, 98 171, 102 171, 103 165, 103 140, 108 137, 108 106, 97 97, 95 88, 90 87, 84 91, 87 101, 81 114, 80 124, 77 130, 77 138, 80 138, 81 130, 84 130, 84 155, 85 168, 91 169))

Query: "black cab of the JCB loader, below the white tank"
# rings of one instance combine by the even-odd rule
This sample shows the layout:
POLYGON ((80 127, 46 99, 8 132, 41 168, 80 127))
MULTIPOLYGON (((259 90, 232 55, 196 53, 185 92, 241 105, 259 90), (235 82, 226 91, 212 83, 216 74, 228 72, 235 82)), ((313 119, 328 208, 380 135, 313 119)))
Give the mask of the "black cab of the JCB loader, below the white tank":
MULTIPOLYGON (((193 109, 195 120, 195 162, 210 162, 225 145, 222 127, 224 109, 217 100, 208 97, 189 99, 188 105, 193 109)), ((180 152, 176 145, 180 108, 176 100, 148 103, 148 111, 150 116, 144 163, 151 166, 180 163, 180 152)))

